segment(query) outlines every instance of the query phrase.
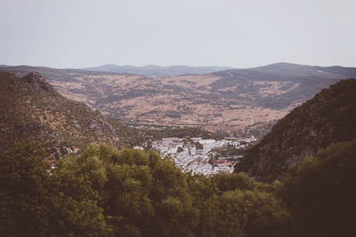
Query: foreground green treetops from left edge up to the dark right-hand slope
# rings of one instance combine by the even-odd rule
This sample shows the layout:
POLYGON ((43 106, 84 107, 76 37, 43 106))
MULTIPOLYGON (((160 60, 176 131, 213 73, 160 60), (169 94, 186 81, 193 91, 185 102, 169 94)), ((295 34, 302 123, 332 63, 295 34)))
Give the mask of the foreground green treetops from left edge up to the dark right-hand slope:
POLYGON ((4 235, 253 236, 287 231, 271 187, 243 174, 190 177, 157 153, 88 146, 47 170, 40 149, 1 156, 4 235))

